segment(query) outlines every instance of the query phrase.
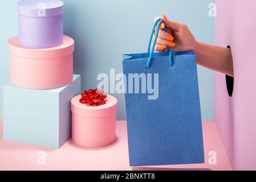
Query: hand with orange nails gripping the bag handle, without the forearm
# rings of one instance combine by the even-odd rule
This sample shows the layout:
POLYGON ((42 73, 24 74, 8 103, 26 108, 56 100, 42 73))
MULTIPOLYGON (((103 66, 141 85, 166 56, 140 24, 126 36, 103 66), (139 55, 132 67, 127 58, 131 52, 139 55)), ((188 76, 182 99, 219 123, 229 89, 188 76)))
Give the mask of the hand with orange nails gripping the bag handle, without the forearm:
POLYGON ((160 26, 161 29, 157 38, 155 51, 164 52, 166 51, 166 47, 173 47, 173 51, 190 51, 194 49, 197 42, 186 24, 174 22, 166 18, 165 15, 156 17, 155 21, 159 18, 164 20, 164 23, 160 26), (163 30, 164 27, 166 27, 168 32, 163 30))

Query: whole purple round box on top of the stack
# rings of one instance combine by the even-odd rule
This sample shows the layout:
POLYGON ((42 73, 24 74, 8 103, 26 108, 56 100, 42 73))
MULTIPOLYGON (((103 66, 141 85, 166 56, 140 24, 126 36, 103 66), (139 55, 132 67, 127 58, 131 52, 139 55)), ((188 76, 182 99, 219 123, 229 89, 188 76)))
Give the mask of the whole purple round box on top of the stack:
POLYGON ((19 1, 19 43, 37 49, 62 45, 63 6, 58 0, 19 1))

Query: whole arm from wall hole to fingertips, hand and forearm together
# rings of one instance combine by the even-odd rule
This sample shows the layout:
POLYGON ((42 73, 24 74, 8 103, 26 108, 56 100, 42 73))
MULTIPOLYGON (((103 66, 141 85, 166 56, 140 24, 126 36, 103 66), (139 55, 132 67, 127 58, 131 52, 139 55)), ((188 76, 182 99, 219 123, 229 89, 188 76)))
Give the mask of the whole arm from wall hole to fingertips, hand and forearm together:
POLYGON ((166 18, 165 15, 157 17, 155 21, 159 18, 164 22, 160 25, 161 30, 159 31, 155 51, 164 52, 166 46, 173 47, 173 51, 193 50, 197 55, 197 64, 234 76, 233 58, 230 49, 197 42, 185 24, 174 22, 166 18), (163 30, 164 27, 168 32, 163 30))

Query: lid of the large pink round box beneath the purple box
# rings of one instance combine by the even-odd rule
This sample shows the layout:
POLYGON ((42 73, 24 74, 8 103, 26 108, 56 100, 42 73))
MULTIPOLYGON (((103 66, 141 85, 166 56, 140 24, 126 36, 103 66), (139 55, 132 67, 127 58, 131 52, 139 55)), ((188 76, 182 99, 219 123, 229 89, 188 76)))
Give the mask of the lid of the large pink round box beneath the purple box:
POLYGON ((9 52, 13 55, 28 58, 48 59, 52 57, 64 57, 74 52, 74 40, 69 36, 63 36, 63 44, 58 47, 32 49, 21 46, 18 36, 15 36, 8 41, 9 52))

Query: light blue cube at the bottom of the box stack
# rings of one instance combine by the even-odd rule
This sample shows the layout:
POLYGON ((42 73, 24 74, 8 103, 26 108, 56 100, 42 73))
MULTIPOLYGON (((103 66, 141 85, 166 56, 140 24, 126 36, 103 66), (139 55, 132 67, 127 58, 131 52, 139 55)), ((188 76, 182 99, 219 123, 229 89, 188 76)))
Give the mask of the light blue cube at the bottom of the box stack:
POLYGON ((81 92, 80 75, 50 90, 3 85, 3 138, 60 148, 71 137, 70 101, 81 92))

